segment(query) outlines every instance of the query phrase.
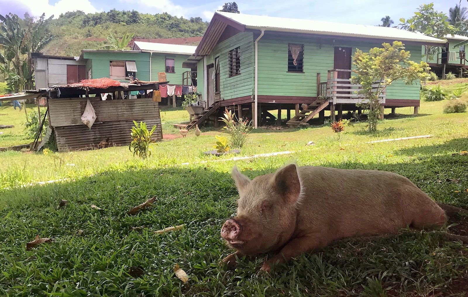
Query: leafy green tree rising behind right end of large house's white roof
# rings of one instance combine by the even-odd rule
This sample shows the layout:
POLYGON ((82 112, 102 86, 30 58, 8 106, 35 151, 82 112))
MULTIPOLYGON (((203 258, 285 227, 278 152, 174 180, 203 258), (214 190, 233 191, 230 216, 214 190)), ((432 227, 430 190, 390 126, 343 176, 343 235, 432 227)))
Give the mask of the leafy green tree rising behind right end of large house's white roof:
MULTIPOLYGON (((402 29, 411 32, 420 32, 426 36, 431 36, 446 40, 447 35, 453 35, 455 28, 448 21, 447 15, 434 9, 434 3, 423 4, 418 7, 417 12, 408 19, 400 19, 402 29)), ((426 49, 426 63, 433 59, 438 47, 424 45, 426 49)), ((429 70, 427 70, 429 72, 429 70)))

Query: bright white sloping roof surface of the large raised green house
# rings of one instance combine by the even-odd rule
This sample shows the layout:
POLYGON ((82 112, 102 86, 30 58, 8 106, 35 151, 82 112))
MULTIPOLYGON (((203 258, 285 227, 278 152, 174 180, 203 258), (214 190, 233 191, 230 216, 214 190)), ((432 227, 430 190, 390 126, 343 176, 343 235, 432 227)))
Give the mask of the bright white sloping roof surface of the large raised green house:
POLYGON ((245 25, 247 29, 265 29, 273 31, 302 32, 322 35, 408 40, 421 43, 446 43, 446 41, 442 39, 397 28, 289 19, 264 15, 234 14, 221 11, 217 11, 216 13, 223 15, 233 20, 234 22, 245 25))

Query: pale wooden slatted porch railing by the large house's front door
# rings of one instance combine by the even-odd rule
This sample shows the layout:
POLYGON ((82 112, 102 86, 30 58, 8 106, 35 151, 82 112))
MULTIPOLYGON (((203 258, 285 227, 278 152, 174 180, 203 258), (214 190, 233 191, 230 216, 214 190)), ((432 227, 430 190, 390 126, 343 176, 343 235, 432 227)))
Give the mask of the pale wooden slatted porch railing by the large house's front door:
MULTIPOLYGON (((349 78, 338 78, 343 76, 351 76, 350 69, 332 69, 328 71, 326 82, 326 96, 333 104, 356 104, 364 101, 364 95, 358 94, 361 90, 360 84, 352 84, 349 78), (346 75, 343 75, 345 73, 346 75), (348 74, 349 73, 349 74, 348 74)), ((322 88, 322 83, 320 84, 322 88)), ((379 82, 376 81, 373 85, 373 90, 377 90, 379 82)), ((385 103, 386 90, 384 89, 379 96, 380 102, 385 103)))

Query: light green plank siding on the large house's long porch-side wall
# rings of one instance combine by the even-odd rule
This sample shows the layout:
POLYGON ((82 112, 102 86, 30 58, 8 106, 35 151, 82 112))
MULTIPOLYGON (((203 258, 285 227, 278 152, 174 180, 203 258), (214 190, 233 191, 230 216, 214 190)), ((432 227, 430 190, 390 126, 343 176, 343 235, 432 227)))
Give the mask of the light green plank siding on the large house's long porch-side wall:
MULTIPOLYGON (((258 43, 258 94, 277 96, 317 95, 317 73, 321 81, 327 80, 333 69, 334 47, 351 47, 368 51, 380 43, 362 43, 335 39, 293 37, 288 35, 265 35, 258 43), (287 72, 288 43, 304 44, 304 73, 287 72)), ((408 47, 414 53, 414 61, 421 61, 419 46, 408 47)), ((396 81, 387 89, 388 99, 419 99, 419 82, 405 85, 396 81)))

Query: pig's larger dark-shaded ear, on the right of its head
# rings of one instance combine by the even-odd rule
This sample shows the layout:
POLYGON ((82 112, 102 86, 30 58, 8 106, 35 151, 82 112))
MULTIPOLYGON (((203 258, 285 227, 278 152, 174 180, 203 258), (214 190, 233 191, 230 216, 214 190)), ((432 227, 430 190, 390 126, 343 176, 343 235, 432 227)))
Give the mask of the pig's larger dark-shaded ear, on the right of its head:
POLYGON ((273 175, 272 182, 286 203, 295 204, 298 202, 301 187, 296 164, 278 169, 273 175))

